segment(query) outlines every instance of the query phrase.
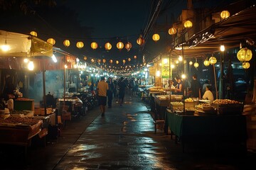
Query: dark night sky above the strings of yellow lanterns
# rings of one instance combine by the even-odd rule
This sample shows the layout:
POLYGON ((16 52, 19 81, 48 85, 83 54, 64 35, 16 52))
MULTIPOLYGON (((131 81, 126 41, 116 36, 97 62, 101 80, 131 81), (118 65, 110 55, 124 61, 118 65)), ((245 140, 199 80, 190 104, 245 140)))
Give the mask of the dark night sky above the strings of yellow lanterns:
MULTIPOLYGON (((228 3, 232 0, 220 0, 215 6, 228 3)), ((194 0, 194 6, 209 6, 213 1, 194 0)), ((144 30, 149 20, 151 11, 151 0, 57 0, 57 6, 49 8, 46 6, 33 5, 28 8, 26 16, 18 12, 18 8, 11 11, 0 11, 1 30, 9 30, 16 33, 29 33, 31 30, 38 32, 38 38, 47 40, 55 38, 56 47, 70 52, 73 55, 82 54, 88 57, 105 57, 107 59, 121 59, 138 55, 139 45, 136 40, 144 30), (35 13, 33 13, 35 11, 35 13), (63 40, 69 39, 70 47, 63 45, 63 40), (85 47, 78 49, 75 43, 82 40, 85 47), (90 42, 95 40, 100 48, 92 51, 90 42), (132 50, 127 52, 125 49, 119 52, 116 43, 132 42, 132 50), (107 41, 112 42, 112 50, 106 52, 104 45, 107 41)), ((156 25, 169 25, 175 22, 181 14, 182 9, 186 9, 186 0, 164 0, 161 12, 156 21, 156 25)), ((171 36, 168 30, 151 30, 146 41, 144 54, 156 57, 165 50, 171 36), (151 35, 157 31, 161 38, 155 43, 151 35)))

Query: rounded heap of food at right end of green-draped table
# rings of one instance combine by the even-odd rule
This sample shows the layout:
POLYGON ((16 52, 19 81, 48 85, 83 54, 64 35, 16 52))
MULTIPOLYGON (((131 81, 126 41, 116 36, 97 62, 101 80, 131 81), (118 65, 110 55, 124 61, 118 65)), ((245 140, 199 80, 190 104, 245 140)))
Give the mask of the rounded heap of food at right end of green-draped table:
POLYGON ((242 103, 229 99, 216 99, 213 101, 213 106, 217 108, 220 115, 238 115, 243 110, 242 103))

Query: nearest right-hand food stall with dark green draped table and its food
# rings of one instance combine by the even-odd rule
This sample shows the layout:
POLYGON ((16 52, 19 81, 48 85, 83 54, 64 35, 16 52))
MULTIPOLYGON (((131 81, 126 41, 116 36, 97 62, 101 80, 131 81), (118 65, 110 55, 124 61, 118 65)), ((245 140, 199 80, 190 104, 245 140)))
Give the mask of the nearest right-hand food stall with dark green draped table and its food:
POLYGON ((196 103, 193 112, 181 111, 182 103, 172 104, 171 109, 166 109, 165 123, 171 130, 171 137, 176 136, 183 151, 188 142, 206 141, 235 143, 246 150, 247 125, 245 115, 242 115, 242 103, 226 99, 205 102, 196 103))

